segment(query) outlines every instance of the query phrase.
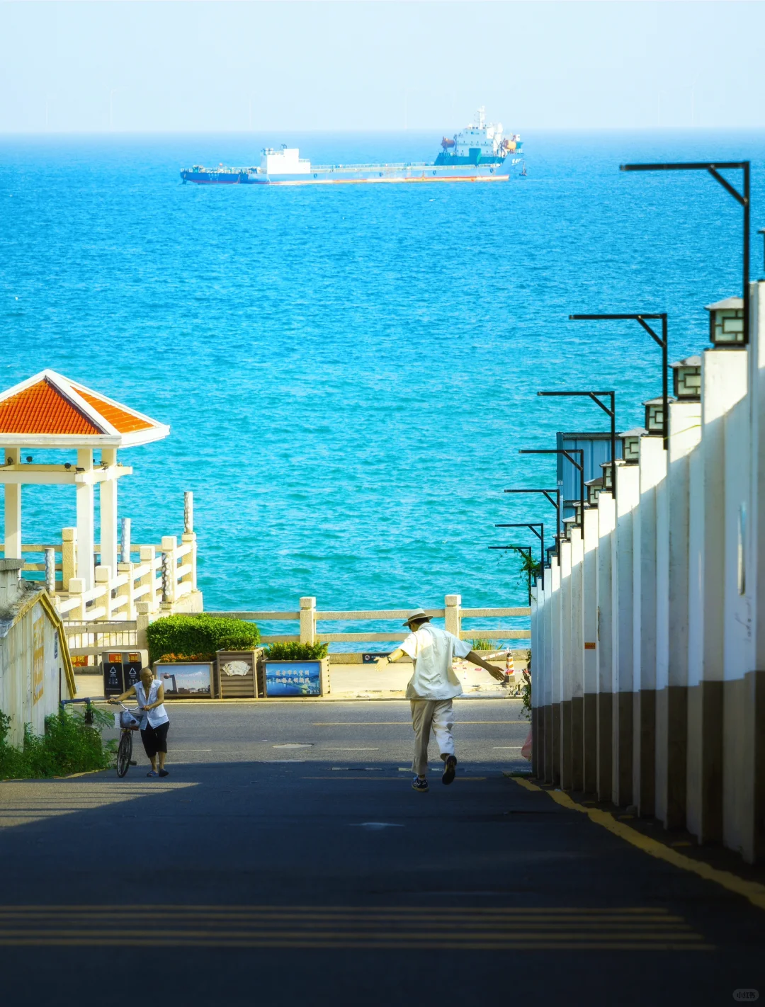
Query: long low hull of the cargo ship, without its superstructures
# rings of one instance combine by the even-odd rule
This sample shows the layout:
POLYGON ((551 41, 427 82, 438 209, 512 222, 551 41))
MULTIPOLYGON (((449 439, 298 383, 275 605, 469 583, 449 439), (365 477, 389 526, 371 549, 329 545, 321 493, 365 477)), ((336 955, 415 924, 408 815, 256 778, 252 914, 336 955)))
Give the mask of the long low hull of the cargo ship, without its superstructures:
POLYGON ((514 164, 388 165, 314 168, 300 174, 265 174, 261 171, 181 171, 183 181, 198 185, 358 185, 394 182, 507 181, 514 164))

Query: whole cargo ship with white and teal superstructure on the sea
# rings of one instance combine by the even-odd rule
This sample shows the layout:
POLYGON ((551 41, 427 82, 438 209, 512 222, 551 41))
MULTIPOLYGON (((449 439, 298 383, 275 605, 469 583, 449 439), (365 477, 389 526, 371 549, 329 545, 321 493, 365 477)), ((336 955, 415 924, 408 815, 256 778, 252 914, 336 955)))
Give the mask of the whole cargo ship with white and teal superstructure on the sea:
POLYGON ((487 123, 484 109, 476 121, 454 137, 443 137, 432 164, 311 164, 297 147, 265 147, 257 167, 206 168, 195 164, 180 172, 183 182, 198 185, 322 185, 358 182, 507 181, 526 174, 523 144, 515 133, 505 136, 502 123, 487 123))

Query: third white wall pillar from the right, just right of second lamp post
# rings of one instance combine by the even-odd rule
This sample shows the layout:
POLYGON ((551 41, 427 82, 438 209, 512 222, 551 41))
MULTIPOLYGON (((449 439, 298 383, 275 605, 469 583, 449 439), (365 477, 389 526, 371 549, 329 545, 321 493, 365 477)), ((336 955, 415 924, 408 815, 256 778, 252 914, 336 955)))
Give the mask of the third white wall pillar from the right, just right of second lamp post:
POLYGON ((669 406, 667 475, 656 488, 656 818, 685 825, 688 669, 688 455, 699 403, 669 406))

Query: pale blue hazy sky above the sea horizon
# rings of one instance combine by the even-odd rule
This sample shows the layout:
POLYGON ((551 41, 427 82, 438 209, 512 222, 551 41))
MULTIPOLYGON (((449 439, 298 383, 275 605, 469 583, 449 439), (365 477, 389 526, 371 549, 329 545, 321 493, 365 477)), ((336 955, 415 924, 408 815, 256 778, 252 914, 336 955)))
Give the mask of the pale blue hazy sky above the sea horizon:
POLYGON ((3 2, 0 133, 765 127, 765 2, 3 2))

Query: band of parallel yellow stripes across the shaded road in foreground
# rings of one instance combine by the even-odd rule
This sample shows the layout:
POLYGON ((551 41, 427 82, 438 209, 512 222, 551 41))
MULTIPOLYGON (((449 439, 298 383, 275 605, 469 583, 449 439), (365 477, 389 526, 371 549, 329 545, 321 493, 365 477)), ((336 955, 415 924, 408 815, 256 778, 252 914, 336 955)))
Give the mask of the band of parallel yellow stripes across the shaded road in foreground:
POLYGON ((5 947, 449 947, 703 951, 704 938, 665 909, 442 906, 0 906, 5 947), (162 921, 147 936, 147 911, 162 921), (444 938, 444 919, 449 922, 444 938))

